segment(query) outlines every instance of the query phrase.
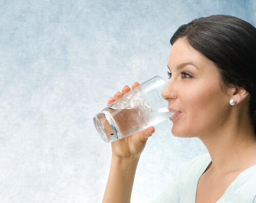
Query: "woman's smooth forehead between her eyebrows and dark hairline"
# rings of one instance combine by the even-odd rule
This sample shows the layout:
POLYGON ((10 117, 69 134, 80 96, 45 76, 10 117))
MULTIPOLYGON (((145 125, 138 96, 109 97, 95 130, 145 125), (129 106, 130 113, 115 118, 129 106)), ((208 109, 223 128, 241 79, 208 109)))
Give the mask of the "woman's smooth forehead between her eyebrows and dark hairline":
POLYGON ((201 70, 217 71, 217 67, 208 58, 190 46, 185 38, 179 38, 173 44, 168 58, 168 66, 175 68, 181 63, 191 62, 201 70), (214 69, 214 70, 212 70, 214 69))

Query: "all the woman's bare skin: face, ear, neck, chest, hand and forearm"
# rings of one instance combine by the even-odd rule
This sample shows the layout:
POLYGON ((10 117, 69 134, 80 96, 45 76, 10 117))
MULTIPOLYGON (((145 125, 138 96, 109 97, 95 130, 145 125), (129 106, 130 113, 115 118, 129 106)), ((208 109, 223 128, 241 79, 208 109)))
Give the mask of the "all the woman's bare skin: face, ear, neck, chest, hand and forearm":
MULTIPOLYGON (((247 114, 249 94, 241 87, 224 85, 216 65, 185 38, 173 44, 168 67, 172 90, 166 87, 162 97, 170 108, 181 111, 173 121, 172 133, 199 138, 212 160, 199 179, 196 203, 216 202, 242 171, 256 164, 256 135, 247 114), (178 69, 185 62, 197 67, 190 64, 178 69), (236 105, 231 106, 230 99, 235 99, 236 105)), ((132 88, 138 85, 135 82, 132 88)), ((108 105, 130 90, 124 86, 108 105)), ((154 131, 151 126, 111 143, 111 169, 102 202, 130 202, 140 154, 154 131)))

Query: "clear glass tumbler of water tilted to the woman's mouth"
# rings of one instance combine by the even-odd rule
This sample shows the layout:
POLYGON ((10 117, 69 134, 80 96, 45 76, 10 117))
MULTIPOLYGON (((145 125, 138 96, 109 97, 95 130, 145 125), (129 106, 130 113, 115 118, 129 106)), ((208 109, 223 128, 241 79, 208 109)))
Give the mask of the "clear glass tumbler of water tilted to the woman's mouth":
POLYGON ((102 140, 111 143, 174 116, 162 97, 163 91, 175 95, 168 80, 155 76, 105 107, 93 118, 102 140))

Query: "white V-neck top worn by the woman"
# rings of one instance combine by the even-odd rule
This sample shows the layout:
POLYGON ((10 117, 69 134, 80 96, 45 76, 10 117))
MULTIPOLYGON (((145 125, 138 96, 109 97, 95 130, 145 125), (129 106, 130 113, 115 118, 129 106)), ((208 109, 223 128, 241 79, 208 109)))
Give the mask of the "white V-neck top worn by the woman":
MULTIPOLYGON (((195 203, 197 184, 211 162, 208 153, 197 156, 152 203, 195 203)), ((256 203, 256 164, 241 172, 216 203, 256 203)))

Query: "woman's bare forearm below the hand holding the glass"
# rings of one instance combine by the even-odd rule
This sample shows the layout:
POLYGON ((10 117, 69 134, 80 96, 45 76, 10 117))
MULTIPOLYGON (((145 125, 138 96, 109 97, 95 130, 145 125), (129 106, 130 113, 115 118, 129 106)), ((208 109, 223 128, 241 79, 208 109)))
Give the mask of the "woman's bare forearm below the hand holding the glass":
POLYGON ((108 183, 102 203, 129 203, 139 159, 121 160, 112 155, 108 183))

